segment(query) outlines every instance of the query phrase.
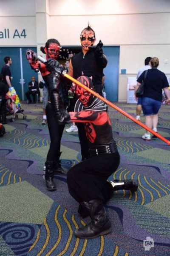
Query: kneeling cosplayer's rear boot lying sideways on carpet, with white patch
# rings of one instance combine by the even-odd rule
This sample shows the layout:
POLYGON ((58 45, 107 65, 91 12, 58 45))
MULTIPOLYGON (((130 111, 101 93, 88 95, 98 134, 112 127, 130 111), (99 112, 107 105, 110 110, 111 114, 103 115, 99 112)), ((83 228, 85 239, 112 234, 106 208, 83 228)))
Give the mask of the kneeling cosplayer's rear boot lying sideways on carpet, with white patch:
POLYGON ((113 180, 111 181, 113 190, 130 190, 131 192, 136 192, 138 190, 138 181, 137 180, 113 180))

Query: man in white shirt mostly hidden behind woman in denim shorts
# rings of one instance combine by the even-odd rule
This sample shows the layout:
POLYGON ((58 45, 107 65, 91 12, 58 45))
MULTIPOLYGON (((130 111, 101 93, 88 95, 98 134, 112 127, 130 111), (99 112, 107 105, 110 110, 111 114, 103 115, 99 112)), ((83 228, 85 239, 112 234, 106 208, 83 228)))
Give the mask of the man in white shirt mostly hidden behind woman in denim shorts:
MULTIPOLYGON (((145 70, 151 69, 150 60, 151 60, 151 57, 145 58, 145 60, 144 60, 144 67, 139 69, 137 77, 136 77, 136 80, 139 78, 139 76, 145 70)), ((136 106, 136 119, 140 120, 140 114, 141 114, 141 111, 142 111, 142 98, 138 98, 137 100, 138 100, 138 102, 137 102, 137 106, 136 106)))

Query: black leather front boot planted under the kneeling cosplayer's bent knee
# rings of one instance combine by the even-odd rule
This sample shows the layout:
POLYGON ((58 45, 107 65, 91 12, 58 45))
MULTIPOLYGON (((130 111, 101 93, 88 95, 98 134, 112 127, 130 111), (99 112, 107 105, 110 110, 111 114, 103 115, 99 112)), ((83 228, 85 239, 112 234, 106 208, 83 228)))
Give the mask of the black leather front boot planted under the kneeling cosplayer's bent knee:
POLYGON ((90 239, 102 236, 111 232, 111 222, 109 221, 105 208, 101 201, 95 199, 88 203, 82 202, 91 217, 91 223, 80 227, 75 231, 75 236, 81 239, 90 239))

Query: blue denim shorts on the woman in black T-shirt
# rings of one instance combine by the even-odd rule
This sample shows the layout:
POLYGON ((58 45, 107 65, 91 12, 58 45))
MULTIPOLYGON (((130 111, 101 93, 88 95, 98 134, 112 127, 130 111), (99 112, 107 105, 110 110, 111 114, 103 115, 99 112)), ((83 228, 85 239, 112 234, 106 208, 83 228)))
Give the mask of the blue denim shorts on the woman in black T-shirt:
POLYGON ((144 116, 156 115, 161 108, 161 102, 155 99, 142 97, 142 111, 144 116))

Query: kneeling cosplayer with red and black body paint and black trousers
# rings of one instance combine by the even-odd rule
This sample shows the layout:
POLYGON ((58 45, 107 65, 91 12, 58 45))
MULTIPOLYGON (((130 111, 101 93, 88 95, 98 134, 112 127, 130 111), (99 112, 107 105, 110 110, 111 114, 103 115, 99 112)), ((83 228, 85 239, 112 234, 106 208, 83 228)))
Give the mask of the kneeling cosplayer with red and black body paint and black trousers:
MULTIPOLYGON (((77 80, 93 90, 93 83, 87 76, 77 80)), ((135 180, 107 181, 118 168, 120 156, 105 104, 78 85, 75 93, 79 100, 75 112, 70 112, 71 122, 84 123, 91 157, 68 171, 67 182, 70 194, 79 202, 80 215, 91 217, 91 223, 76 230, 75 236, 88 239, 111 232, 111 222, 103 204, 113 192, 118 189, 134 192, 138 186, 135 180)))

